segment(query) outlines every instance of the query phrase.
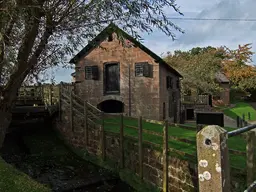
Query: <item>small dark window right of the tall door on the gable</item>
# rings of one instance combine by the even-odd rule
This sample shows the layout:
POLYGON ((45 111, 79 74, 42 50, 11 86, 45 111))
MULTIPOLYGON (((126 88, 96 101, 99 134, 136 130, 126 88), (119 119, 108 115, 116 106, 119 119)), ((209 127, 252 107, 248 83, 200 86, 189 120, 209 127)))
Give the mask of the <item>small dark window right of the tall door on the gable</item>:
POLYGON ((148 62, 135 63, 136 77, 153 77, 153 65, 148 62))

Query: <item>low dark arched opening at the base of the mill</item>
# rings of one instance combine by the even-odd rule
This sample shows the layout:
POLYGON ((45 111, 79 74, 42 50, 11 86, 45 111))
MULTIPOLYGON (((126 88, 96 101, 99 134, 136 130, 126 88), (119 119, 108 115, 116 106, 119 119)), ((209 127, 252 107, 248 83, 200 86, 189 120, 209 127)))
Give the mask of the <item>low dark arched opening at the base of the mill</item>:
POLYGON ((105 113, 123 113, 124 104, 117 100, 105 100, 98 104, 98 109, 105 113))

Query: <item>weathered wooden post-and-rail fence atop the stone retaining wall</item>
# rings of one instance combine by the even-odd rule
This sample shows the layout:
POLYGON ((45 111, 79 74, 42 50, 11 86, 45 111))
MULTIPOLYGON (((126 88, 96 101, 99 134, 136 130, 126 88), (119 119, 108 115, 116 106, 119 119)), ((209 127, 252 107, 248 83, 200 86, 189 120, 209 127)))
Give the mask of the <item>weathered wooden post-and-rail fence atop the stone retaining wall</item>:
MULTIPOLYGON (((155 149, 162 152, 163 155, 163 184, 160 186, 163 188, 163 191, 168 191, 168 156, 170 153, 176 153, 180 157, 187 157, 190 159, 196 160, 196 154, 189 154, 174 148, 169 147, 170 141, 177 141, 182 142, 185 144, 191 144, 195 145, 195 140, 189 140, 186 138, 179 138, 174 137, 171 135, 168 135, 169 132, 169 126, 171 124, 168 123, 168 121, 162 122, 162 129, 158 131, 152 131, 147 130, 143 126, 143 124, 147 121, 145 119, 142 119, 142 117, 138 118, 131 118, 133 121, 136 122, 137 125, 127 125, 124 120, 128 117, 123 116, 123 114, 106 114, 102 111, 100 111, 95 106, 91 105, 89 102, 84 101, 80 97, 74 94, 74 92, 70 89, 65 88, 64 86, 60 86, 60 103, 59 103, 59 112, 61 113, 61 105, 62 103, 65 103, 65 105, 69 106, 69 119, 70 119, 70 130, 75 131, 75 127, 73 125, 73 117, 74 113, 76 115, 82 117, 84 119, 84 138, 85 143, 88 142, 88 126, 89 125, 97 125, 100 133, 100 151, 101 151, 101 158, 104 161, 106 159, 106 146, 105 146, 105 139, 106 139, 106 133, 108 132, 115 132, 119 134, 119 147, 120 147, 120 162, 119 166, 120 168, 125 168, 125 149, 124 149, 124 139, 125 137, 132 137, 135 140, 137 140, 138 145, 138 154, 139 154, 139 178, 143 180, 144 173, 143 173, 143 144, 150 144, 155 149), (115 130, 110 130, 109 127, 115 127, 115 130), (126 130, 132 130, 135 134, 128 134, 126 130), (150 141, 150 139, 146 140, 146 135, 155 136, 157 137, 160 142, 155 143, 150 141)), ((59 115, 61 117, 61 114, 59 115)), ((61 120, 61 119, 60 119, 61 120)), ((172 125, 175 126, 175 125, 172 125)), ((191 129, 191 128, 188 128, 191 129)))

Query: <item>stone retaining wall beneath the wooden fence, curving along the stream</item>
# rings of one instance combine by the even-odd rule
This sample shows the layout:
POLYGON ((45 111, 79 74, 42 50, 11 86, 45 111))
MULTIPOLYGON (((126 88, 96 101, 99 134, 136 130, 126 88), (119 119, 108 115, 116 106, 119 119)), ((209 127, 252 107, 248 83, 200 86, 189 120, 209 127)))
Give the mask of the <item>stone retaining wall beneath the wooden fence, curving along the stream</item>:
MULTIPOLYGON (((88 143, 85 143, 84 120, 74 114, 74 131, 70 126, 69 105, 62 104, 61 121, 56 122, 56 128, 62 137, 73 147, 83 149, 90 156, 101 159, 100 128, 98 125, 89 124, 88 143)), ((112 169, 120 171, 120 136, 119 133, 105 133, 105 149, 107 162, 111 161, 112 169)), ((134 138, 124 138, 124 168, 139 174, 138 141, 134 138)), ((121 170, 122 171, 122 170, 121 170)), ((196 191, 197 173, 194 164, 175 157, 169 157, 168 167, 169 192, 196 191)), ((143 180, 158 189, 163 182, 163 155, 162 152, 148 143, 143 143, 143 180)), ((139 181, 139 179, 138 179, 139 181)), ((129 181, 127 181, 129 183, 129 181)), ((133 183, 129 183, 133 186, 133 183)), ((143 185, 141 185, 143 186, 143 185)))

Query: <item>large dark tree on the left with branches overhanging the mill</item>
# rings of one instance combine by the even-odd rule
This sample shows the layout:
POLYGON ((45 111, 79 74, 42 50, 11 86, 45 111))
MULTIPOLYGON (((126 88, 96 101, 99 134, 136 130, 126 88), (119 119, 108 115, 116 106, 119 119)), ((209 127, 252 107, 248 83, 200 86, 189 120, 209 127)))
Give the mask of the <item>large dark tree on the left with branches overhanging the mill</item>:
POLYGON ((114 22, 136 39, 160 29, 183 32, 165 15, 182 14, 175 0, 4 0, 0 1, 0 146, 11 121, 16 93, 25 78, 65 64, 79 45, 114 22))

